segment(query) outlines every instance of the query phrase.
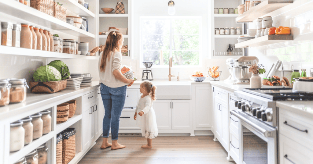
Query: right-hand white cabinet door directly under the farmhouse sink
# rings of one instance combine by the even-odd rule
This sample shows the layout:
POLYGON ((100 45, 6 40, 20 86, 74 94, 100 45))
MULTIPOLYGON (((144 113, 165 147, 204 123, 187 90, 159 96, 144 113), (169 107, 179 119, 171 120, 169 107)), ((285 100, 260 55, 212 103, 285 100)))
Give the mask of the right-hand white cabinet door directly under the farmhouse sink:
POLYGON ((172 100, 172 129, 192 129, 191 100, 172 100))

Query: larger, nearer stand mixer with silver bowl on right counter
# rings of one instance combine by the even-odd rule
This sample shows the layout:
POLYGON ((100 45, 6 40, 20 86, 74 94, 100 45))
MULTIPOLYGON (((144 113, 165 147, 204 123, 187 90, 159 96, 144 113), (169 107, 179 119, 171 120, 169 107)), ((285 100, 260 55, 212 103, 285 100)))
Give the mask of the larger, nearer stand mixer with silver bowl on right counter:
POLYGON ((237 80, 234 84, 250 84, 252 72, 249 72, 249 67, 253 62, 258 64, 259 59, 255 56, 242 56, 234 61, 233 76, 237 80))

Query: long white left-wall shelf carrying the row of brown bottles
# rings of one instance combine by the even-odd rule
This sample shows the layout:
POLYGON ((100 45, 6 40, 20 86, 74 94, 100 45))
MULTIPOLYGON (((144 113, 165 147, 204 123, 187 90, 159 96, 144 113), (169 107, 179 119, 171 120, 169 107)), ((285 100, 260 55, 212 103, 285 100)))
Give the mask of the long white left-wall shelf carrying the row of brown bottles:
POLYGON ((11 46, 1 46, 0 54, 5 55, 22 55, 22 56, 34 56, 34 57, 54 57, 54 58, 66 58, 66 59, 86 59, 86 60, 96 60, 95 56, 85 56, 85 55, 74 55, 68 53, 58 53, 49 52, 41 50, 33 50, 28 48, 11 47, 11 46))

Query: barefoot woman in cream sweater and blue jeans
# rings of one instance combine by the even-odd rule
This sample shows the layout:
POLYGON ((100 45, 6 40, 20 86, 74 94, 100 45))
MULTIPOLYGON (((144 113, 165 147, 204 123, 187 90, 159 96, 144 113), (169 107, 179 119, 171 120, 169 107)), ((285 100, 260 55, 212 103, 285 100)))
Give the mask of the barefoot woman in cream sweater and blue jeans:
POLYGON ((120 32, 111 31, 106 39, 105 48, 100 53, 100 90, 105 109, 101 149, 111 147, 111 150, 115 150, 126 147, 117 142, 118 130, 126 99, 126 85, 130 86, 134 79, 127 79, 121 73, 123 42, 124 38, 120 32), (112 144, 108 142, 110 128, 112 144))

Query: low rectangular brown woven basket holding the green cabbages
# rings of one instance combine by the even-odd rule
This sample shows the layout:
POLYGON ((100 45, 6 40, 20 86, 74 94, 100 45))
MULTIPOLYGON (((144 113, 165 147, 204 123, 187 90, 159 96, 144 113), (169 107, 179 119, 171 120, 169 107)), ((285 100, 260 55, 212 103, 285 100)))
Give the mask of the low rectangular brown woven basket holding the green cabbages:
POLYGON ((66 88, 66 81, 56 82, 29 82, 30 92, 33 93, 55 93, 66 88))

